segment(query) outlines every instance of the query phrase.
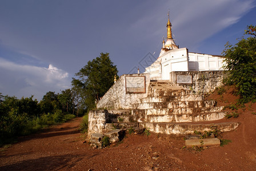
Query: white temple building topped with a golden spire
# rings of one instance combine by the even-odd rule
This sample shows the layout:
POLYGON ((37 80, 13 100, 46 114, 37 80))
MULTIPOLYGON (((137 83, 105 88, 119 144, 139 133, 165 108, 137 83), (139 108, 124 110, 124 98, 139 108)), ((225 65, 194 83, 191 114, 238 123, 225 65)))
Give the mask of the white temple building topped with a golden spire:
POLYGON ((150 74, 151 80, 170 80, 172 71, 220 71, 223 70, 223 57, 217 55, 189 52, 179 48, 173 39, 171 22, 168 14, 167 38, 158 59, 147 67, 144 73, 150 74))

